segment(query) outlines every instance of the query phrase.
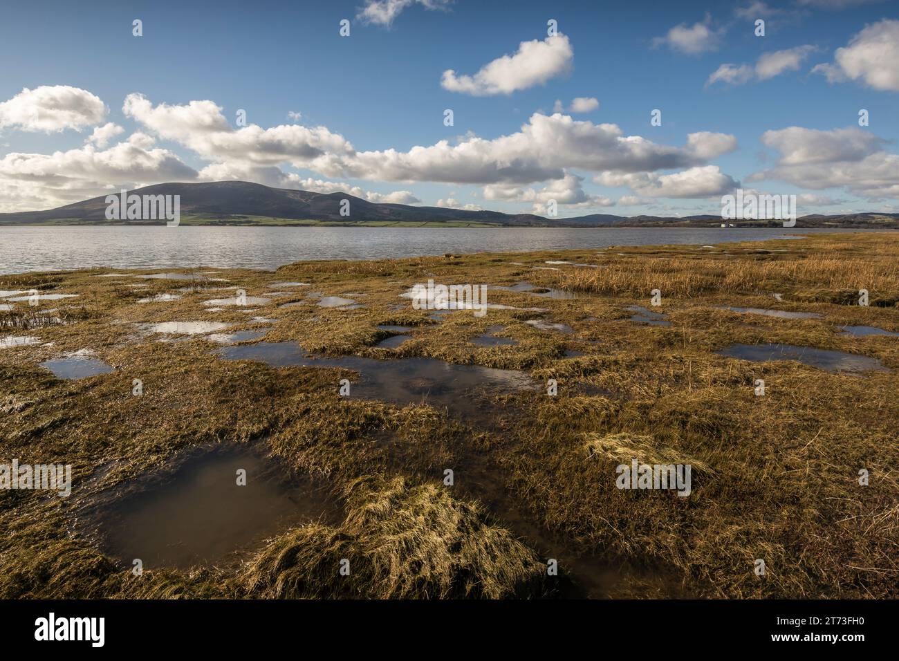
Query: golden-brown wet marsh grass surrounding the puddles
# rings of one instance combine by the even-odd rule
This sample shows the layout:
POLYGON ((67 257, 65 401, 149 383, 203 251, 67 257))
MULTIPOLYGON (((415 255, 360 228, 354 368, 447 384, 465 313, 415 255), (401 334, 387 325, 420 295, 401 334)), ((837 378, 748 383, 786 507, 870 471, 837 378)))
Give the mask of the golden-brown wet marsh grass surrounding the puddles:
MULTIPOLYGON (((899 342, 841 329, 899 331, 899 235, 198 268, 185 273, 203 287, 187 291, 184 281, 94 277, 102 273, 0 277, 0 290, 79 294, 0 311, 0 335, 39 340, 0 348, 0 463, 73 466, 69 498, 0 491, 0 597, 896 596, 899 342), (558 270, 531 268, 546 262, 558 270), (432 318, 399 296, 429 278, 528 281, 577 296, 540 299, 545 314, 491 308, 432 318), (236 296, 209 287, 245 290, 252 302, 283 281, 310 286, 245 308, 204 303, 236 296), (859 289, 868 307, 858 305, 859 289), (175 292, 182 298, 138 303, 175 292), (364 307, 321 308, 316 292, 364 307), (631 321, 635 305, 671 326, 631 321), (42 317, 65 323, 29 321, 42 317), (525 323, 535 318, 572 332, 525 323), (527 371, 539 384, 556 380, 558 395, 479 389, 462 416, 341 397, 340 380, 353 371, 223 360, 207 335, 138 326, 172 321, 217 322, 235 334, 264 327, 265 342, 321 356, 527 371), (517 344, 472 342, 497 325, 517 344), (378 326, 408 326, 410 339, 378 348, 393 333, 378 326), (717 354, 732 344, 859 353, 889 371, 717 354), (58 380, 40 367, 85 349, 114 371, 58 380), (134 380, 142 396, 132 394, 134 380), (756 380, 766 383, 763 397, 756 380), (141 576, 76 523, 87 504, 128 491, 182 451, 250 443, 329 485, 341 520, 280 531, 236 564, 141 576), (690 496, 619 490, 616 466, 630 458, 690 463, 690 496), (547 576, 551 558, 561 576, 547 576), (765 576, 753 571, 757 558, 765 576)), ((491 288, 488 300, 532 308, 535 298, 491 288)), ((238 346, 257 342, 239 336, 248 339, 238 346)))

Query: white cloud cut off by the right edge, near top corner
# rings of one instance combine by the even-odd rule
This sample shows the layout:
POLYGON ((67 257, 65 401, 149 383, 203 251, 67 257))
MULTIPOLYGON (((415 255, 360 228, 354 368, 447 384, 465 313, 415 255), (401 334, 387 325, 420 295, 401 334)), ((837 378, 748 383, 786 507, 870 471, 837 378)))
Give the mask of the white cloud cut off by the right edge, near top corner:
POLYGON ((854 35, 837 49, 833 64, 819 64, 813 73, 831 83, 857 80, 876 90, 899 92, 899 21, 884 19, 854 35))

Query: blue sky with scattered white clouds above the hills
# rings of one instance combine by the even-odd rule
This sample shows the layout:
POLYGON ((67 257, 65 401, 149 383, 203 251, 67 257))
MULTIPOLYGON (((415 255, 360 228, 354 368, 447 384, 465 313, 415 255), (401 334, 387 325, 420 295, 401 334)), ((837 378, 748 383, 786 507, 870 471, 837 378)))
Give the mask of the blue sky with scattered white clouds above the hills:
POLYGON ((228 179, 560 218, 738 188, 899 212, 895 0, 7 3, 0 61, 0 212, 228 179))

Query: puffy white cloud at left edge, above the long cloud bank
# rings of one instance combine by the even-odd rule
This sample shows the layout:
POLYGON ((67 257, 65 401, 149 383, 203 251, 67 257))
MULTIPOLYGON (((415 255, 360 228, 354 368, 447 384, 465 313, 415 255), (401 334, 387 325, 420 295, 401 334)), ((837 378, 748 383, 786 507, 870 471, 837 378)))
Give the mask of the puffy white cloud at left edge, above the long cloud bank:
POLYGON ((10 127, 46 133, 82 130, 103 121, 106 112, 100 97, 79 87, 41 85, 33 90, 25 87, 9 101, 0 103, 0 129, 10 127))

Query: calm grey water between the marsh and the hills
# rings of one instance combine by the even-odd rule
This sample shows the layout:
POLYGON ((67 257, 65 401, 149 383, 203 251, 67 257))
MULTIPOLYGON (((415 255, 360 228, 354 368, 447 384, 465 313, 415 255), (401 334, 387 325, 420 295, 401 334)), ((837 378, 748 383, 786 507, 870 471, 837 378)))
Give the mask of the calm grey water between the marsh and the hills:
MULTIPOLYGON (((93 267, 275 269, 309 259, 717 244, 830 229, 0 227, 0 273, 93 267)), ((876 230, 868 230, 876 231, 876 230)))

